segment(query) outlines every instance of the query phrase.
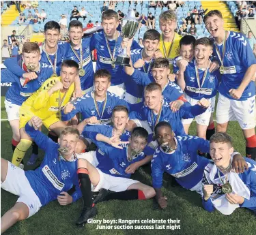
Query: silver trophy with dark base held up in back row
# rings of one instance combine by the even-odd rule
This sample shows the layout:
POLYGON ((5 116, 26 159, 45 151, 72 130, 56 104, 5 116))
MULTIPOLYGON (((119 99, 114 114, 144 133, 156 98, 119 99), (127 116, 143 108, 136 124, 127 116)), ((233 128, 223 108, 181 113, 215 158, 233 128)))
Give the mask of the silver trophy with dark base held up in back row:
MULTIPOLYGON (((134 10, 130 10, 128 15, 122 19, 121 22, 121 36, 123 38, 128 38, 129 40, 134 37, 135 33, 139 28, 139 22, 135 18, 134 10)), ((130 58, 126 53, 126 48, 124 48, 121 54, 117 55, 115 65, 124 65, 130 67, 130 58)))

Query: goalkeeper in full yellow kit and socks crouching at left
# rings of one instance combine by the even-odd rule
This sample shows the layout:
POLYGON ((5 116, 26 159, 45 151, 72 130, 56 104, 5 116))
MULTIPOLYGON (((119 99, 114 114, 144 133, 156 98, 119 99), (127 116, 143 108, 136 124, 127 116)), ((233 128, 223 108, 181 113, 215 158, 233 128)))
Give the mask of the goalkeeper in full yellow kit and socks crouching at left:
POLYGON ((19 166, 32 144, 31 137, 25 131, 25 125, 32 116, 39 116, 44 126, 55 131, 58 136, 66 127, 66 123, 60 120, 60 109, 70 101, 78 70, 79 65, 75 61, 63 61, 61 76, 46 80, 20 107, 20 143, 16 146, 12 157, 15 166, 19 166))

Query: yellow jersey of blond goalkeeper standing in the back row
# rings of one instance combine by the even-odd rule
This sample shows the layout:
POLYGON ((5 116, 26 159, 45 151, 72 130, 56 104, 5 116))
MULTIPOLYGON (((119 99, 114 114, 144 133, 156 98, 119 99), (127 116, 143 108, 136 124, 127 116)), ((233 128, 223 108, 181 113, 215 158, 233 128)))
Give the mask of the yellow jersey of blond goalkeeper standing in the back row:
POLYGON ((165 45, 162 41, 162 34, 160 37, 159 49, 162 52, 162 55, 169 60, 171 74, 173 74, 173 59, 180 54, 180 40, 182 36, 175 33, 173 45, 171 42, 165 42, 165 45), (171 49, 171 51, 170 51, 171 49))

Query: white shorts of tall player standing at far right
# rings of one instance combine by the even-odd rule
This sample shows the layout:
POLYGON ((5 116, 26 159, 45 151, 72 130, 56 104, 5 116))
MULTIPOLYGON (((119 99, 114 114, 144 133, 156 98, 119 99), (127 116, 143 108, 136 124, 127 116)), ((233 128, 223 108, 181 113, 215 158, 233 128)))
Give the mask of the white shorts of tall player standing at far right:
POLYGON ((239 101, 219 94, 216 118, 219 124, 238 121, 242 129, 255 128, 255 95, 239 101))

